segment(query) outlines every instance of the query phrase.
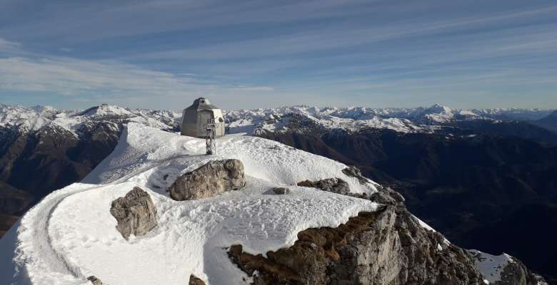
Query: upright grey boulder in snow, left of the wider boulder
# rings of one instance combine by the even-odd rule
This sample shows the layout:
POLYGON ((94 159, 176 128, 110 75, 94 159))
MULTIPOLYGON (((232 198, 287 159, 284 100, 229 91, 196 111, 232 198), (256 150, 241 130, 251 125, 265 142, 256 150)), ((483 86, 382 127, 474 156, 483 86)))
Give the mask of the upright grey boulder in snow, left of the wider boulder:
POLYGON ((116 229, 124 239, 128 239, 130 234, 144 235, 157 224, 156 208, 151 196, 139 187, 114 200, 110 213, 118 221, 116 229))

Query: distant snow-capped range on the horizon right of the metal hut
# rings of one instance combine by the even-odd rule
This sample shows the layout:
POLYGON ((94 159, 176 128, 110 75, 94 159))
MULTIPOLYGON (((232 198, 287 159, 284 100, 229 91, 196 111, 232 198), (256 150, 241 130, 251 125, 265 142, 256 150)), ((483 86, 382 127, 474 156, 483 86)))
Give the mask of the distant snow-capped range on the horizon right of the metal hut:
POLYGON ((293 106, 226 113, 229 132, 260 134, 283 132, 313 125, 325 130, 388 129, 400 133, 433 133, 444 125, 474 120, 527 120, 542 118, 549 110, 486 109, 460 110, 442 105, 428 108, 318 108, 293 106))

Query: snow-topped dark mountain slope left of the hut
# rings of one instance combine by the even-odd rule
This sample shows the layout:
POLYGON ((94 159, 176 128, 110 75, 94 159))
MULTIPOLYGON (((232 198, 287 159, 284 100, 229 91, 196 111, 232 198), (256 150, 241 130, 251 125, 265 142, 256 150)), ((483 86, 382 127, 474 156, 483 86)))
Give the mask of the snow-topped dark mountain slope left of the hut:
POLYGON ((9 228, 13 215, 23 214, 53 190, 84 178, 114 150, 124 124, 139 122, 174 130, 177 116, 109 105, 66 111, 0 104, 0 200, 5 201, 0 203, 0 223, 9 228), (25 195, 14 198, 10 188, 25 195), (21 209, 14 212, 14 203, 21 209))

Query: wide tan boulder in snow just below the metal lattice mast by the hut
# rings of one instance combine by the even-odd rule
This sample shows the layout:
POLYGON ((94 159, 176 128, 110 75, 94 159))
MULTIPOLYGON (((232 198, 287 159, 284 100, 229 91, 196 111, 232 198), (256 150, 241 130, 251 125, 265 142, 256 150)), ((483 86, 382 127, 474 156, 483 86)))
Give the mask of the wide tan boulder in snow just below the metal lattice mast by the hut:
POLYGON ((244 164, 240 160, 214 160, 187 172, 170 187, 177 201, 213 197, 246 185, 244 164))

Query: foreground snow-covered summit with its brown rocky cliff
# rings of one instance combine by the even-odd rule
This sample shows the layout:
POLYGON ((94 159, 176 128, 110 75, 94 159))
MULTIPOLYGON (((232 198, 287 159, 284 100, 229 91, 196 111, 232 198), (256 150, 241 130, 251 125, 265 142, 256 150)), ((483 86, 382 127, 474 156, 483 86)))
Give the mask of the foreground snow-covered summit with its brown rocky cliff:
POLYGON ((340 162, 241 135, 219 138, 216 149, 204 155, 202 139, 128 123, 114 152, 81 183, 52 192, 0 239, 3 282, 85 285, 94 275, 113 285, 185 284, 191 276, 213 285, 544 284, 520 264, 476 264, 406 211, 400 195, 340 162), (165 191, 176 177, 231 158, 243 162, 244 188, 186 201, 165 191), (349 193, 298 186, 330 178, 349 193), (134 187, 153 199, 159 222, 126 240, 109 210, 134 187), (493 266, 520 278, 488 279, 493 266))

